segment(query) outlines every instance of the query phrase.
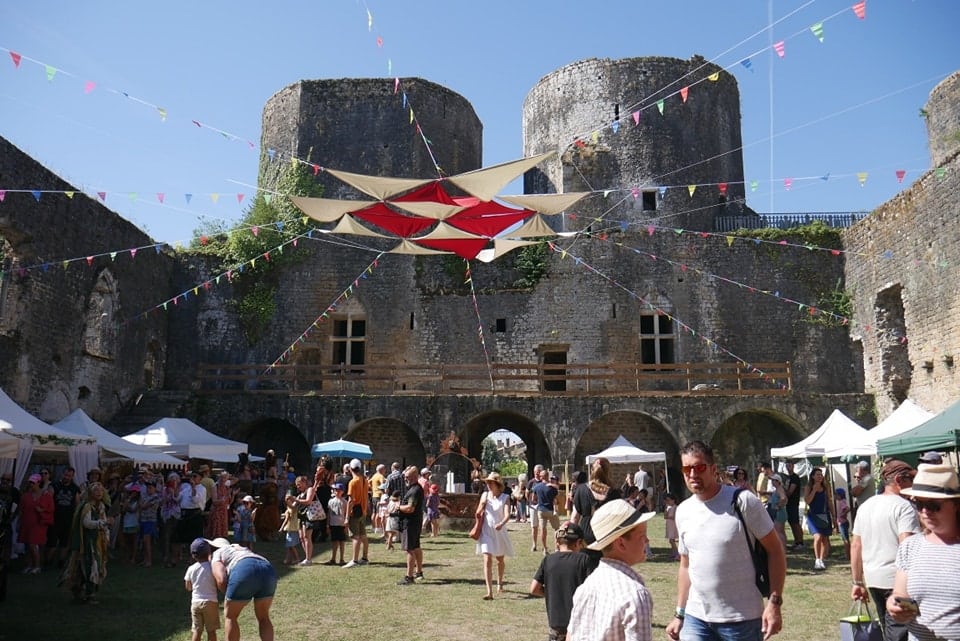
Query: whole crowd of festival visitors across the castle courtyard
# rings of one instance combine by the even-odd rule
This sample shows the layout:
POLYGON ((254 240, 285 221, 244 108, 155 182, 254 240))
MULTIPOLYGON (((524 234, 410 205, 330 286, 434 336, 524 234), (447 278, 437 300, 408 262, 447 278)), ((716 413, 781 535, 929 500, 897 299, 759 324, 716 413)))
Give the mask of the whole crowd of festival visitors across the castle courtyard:
MULTIPOLYGON (((924 455, 919 469, 896 459, 875 474, 869 464, 856 465, 849 503, 843 488, 831 490, 821 468, 812 468, 804 483, 793 463, 779 472, 764 463, 751 482, 744 468, 718 465, 703 442, 685 445, 680 458, 690 493, 682 502, 642 465, 616 485, 603 458, 573 474, 563 506, 557 475, 542 465, 512 486, 496 472, 475 475, 482 598, 503 593, 507 559, 515 554, 508 524, 529 522, 531 551, 544 557, 530 594, 546 597, 551 641, 651 639, 653 606, 634 566, 651 555, 646 523, 661 511, 678 562, 676 610, 666 628, 671 639, 776 634, 788 535, 800 549, 805 531, 813 538, 816 570, 826 567, 830 535, 840 533, 848 546, 851 598, 873 604, 885 640, 960 638, 960 588, 926 580, 960 569, 960 483, 955 469, 935 454, 924 455), (877 482, 876 492, 867 487, 877 482), (561 512, 569 520, 561 523, 561 512), (763 592, 754 541, 768 559, 763 592)), ((17 506, 23 573, 56 568, 60 583, 83 603, 97 602, 111 557, 143 567, 156 561, 174 566, 188 551, 193 563, 184 581, 193 595, 195 640, 204 631, 216 633, 219 614, 211 613, 211 603, 218 589, 226 595, 228 640, 239 638, 238 616, 251 600, 261 638, 273 638, 269 611, 277 579, 270 562, 254 552, 260 540, 282 539, 283 563, 295 567, 312 565, 314 545, 329 541, 323 564, 351 569, 369 563, 369 527, 382 535, 386 552, 397 545, 404 551, 406 572, 398 585, 423 582, 421 538, 439 533, 443 508, 429 468, 393 463, 368 473, 353 459, 335 470, 331 459, 322 458, 312 478, 286 465, 279 473, 267 469, 256 499, 248 493, 251 479, 243 477, 243 468, 238 471, 212 475, 207 465, 166 474, 139 469, 125 478, 111 473, 104 481, 94 468, 77 483, 69 467, 57 480, 43 469, 30 474, 21 491, 4 474, 0 499, 16 496, 0 500, 0 517, 9 504, 17 506)), ((3 540, 6 559, 9 537, 3 540)))

